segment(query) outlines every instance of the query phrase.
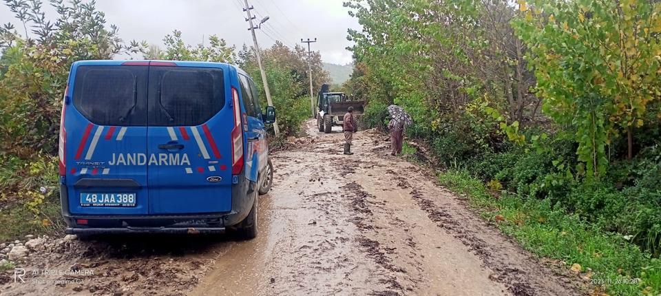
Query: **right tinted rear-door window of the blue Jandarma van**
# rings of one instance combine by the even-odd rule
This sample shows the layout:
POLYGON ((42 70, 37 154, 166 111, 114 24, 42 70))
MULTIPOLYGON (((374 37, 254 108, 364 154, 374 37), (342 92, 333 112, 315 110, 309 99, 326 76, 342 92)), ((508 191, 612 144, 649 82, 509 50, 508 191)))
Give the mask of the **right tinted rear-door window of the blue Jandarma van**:
POLYGON ((201 125, 225 104, 222 70, 151 67, 149 97, 149 125, 201 125))

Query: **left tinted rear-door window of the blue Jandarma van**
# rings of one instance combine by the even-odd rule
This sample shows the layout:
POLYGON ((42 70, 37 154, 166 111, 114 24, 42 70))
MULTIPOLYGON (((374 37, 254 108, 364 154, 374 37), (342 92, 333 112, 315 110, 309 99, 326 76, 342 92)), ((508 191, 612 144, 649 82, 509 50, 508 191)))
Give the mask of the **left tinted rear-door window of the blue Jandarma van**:
POLYGON ((147 67, 80 66, 74 106, 96 125, 146 125, 147 67))

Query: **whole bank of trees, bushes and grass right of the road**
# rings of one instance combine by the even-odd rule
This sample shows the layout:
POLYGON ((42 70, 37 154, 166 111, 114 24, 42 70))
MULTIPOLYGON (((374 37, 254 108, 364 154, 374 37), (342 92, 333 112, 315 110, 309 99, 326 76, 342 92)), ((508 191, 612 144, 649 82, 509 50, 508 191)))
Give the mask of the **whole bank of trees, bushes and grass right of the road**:
POLYGON ((596 293, 661 292, 660 3, 345 6, 363 30, 343 88, 371 127, 403 106, 441 184, 525 248, 596 293))

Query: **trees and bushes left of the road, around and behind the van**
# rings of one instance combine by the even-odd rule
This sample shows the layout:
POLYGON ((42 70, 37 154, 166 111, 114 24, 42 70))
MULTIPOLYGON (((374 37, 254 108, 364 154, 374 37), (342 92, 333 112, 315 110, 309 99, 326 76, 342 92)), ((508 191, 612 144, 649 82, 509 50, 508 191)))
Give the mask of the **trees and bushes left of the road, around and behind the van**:
MULTIPOLYGON (((237 50, 215 35, 204 45, 189 45, 178 30, 163 38, 163 47, 124 41, 93 1, 50 1, 55 15, 45 14, 42 1, 6 0, 3 5, 19 23, 0 28, 0 242, 63 229, 57 139, 74 61, 121 55, 235 63, 253 77, 266 106, 252 47, 237 50)), ((309 113, 308 54, 300 46, 277 43, 263 50, 263 57, 282 136, 295 134, 309 113)), ((311 63, 319 89, 328 74, 318 53, 311 55, 311 63)))

